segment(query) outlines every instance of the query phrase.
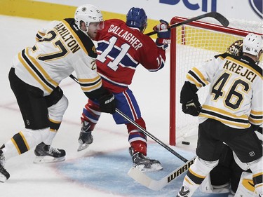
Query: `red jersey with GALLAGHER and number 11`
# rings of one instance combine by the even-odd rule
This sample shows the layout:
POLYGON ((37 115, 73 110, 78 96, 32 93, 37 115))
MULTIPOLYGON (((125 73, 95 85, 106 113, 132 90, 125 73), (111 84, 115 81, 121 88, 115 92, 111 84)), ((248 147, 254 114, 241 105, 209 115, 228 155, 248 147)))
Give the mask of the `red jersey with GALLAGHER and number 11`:
POLYGON ((139 29, 128 27, 118 19, 104 21, 104 29, 97 32, 97 72, 104 88, 121 93, 130 85, 138 64, 150 72, 161 69, 166 51, 139 29))

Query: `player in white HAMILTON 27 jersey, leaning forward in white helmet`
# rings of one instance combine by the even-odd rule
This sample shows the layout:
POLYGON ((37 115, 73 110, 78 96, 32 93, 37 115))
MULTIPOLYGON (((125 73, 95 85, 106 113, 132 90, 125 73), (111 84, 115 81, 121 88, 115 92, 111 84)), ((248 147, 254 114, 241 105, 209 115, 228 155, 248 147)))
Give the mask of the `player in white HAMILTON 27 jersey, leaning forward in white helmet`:
POLYGON ((115 100, 102 87, 96 72, 97 53, 91 39, 103 28, 101 12, 92 5, 79 6, 75 18, 53 21, 41 29, 33 47, 20 51, 9 72, 11 89, 18 101, 25 129, 16 133, 0 149, 0 182, 10 177, 4 168, 6 160, 34 148, 36 155, 62 156, 65 151, 50 147, 50 128, 62 121, 67 98, 60 82, 76 73, 83 93, 100 103, 100 110, 113 114, 115 100))

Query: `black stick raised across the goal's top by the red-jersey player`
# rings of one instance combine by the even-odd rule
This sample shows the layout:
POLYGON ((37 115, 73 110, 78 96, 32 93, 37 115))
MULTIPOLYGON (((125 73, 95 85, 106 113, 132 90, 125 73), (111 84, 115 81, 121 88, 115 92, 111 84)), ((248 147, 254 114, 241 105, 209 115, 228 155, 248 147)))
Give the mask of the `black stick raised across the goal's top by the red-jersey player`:
MULTIPOLYGON (((229 20, 227 20, 227 18, 225 18, 222 14, 217 13, 217 12, 210 12, 210 13, 205 13, 203 15, 198 15, 198 16, 196 16, 194 18, 190 18, 190 19, 184 20, 182 22, 177 22, 177 23, 175 23, 173 25, 170 25, 170 28, 168 28, 168 29, 172 29, 172 28, 175 28, 175 27, 178 27, 178 26, 181 26, 181 25, 185 25, 185 24, 187 24, 189 22, 193 22, 193 21, 200 20, 202 18, 208 18, 208 17, 215 18, 215 20, 220 22, 224 27, 227 27, 229 25, 229 20)), ((157 34, 157 32, 149 32, 146 35, 151 36, 151 35, 154 35, 154 34, 157 34)))

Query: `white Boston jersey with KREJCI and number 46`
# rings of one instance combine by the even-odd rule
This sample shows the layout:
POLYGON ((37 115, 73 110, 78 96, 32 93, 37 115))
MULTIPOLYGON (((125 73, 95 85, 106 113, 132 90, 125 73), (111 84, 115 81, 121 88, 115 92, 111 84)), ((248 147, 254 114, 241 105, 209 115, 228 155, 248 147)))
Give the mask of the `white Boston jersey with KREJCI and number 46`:
POLYGON ((216 55, 191 69, 187 80, 198 89, 210 83, 200 123, 213 118, 232 128, 262 124, 262 68, 250 57, 216 55))

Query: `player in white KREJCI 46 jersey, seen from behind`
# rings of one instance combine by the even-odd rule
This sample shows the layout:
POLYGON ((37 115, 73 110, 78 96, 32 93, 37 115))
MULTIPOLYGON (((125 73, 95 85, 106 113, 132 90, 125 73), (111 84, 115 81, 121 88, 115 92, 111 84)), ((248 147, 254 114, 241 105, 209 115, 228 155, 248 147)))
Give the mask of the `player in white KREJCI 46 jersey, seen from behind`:
POLYGON ((177 197, 190 197, 215 168, 223 143, 227 144, 253 174, 257 196, 262 196, 262 145, 254 130, 262 124, 262 36, 243 39, 243 55, 224 53, 192 68, 181 90, 185 114, 199 116, 198 156, 184 177, 177 197), (201 106, 196 92, 210 83, 210 93, 201 106))

